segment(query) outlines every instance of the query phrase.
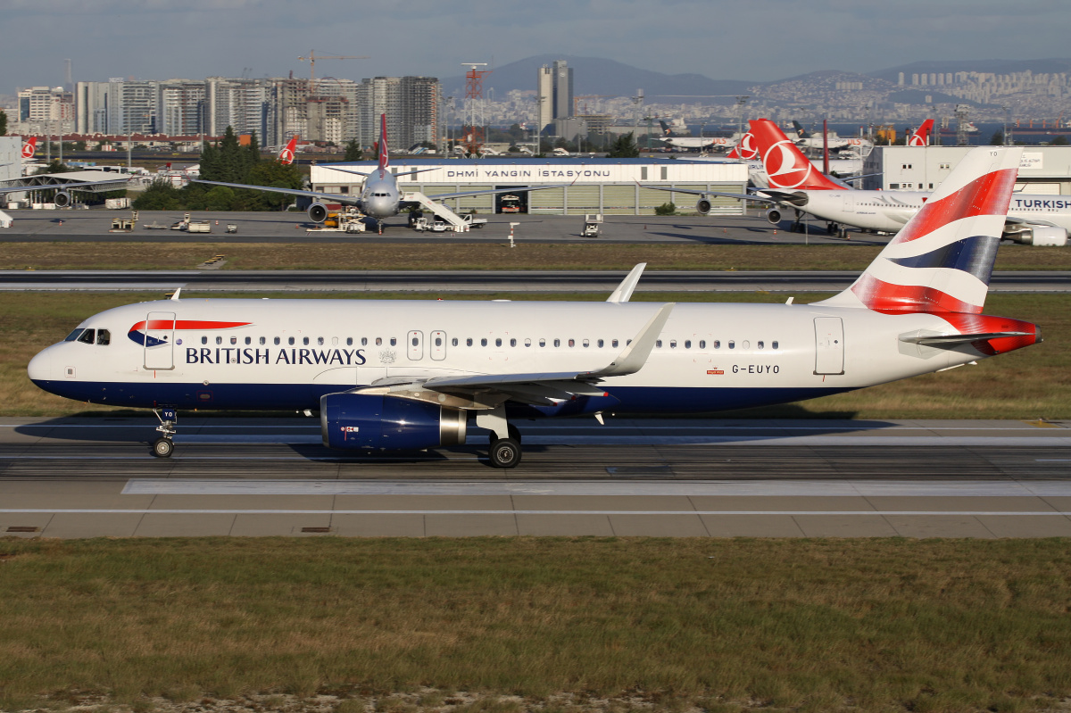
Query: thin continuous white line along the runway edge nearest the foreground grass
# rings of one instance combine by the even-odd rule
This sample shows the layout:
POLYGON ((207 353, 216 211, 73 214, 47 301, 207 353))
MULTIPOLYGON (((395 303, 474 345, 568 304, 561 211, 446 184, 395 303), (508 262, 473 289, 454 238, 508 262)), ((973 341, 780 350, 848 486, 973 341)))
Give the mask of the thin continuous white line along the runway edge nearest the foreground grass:
POLYGON ((0 509, 3 515, 1014 515, 1071 516, 1071 511, 972 511, 972 510, 120 510, 120 509, 0 509))

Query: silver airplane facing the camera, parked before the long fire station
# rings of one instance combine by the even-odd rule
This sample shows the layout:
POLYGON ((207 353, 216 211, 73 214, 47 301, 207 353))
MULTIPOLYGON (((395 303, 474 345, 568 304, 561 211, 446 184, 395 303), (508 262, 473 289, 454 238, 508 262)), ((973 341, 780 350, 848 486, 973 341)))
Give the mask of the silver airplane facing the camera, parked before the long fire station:
MULTIPOLYGON (((393 217, 397 215, 403 208, 404 201, 402 200, 403 191, 398 188, 397 180, 403 176, 412 176, 413 173, 422 173, 424 171, 435 170, 434 168, 421 168, 413 171, 406 171, 405 173, 392 173, 388 170, 390 167, 390 157, 387 150, 387 115, 380 115, 380 132, 379 132, 379 166, 371 172, 358 171, 350 168, 344 168, 342 166, 332 166, 334 170, 344 171, 346 173, 356 173, 358 176, 364 176, 364 186, 359 195, 348 195, 348 194, 336 194, 336 193, 325 193, 321 191, 298 191, 295 188, 274 188, 271 186, 263 185, 248 185, 245 183, 224 183, 223 181, 202 181, 200 179, 194 179, 193 183, 206 183, 208 185, 225 185, 231 188, 247 188, 250 191, 268 191, 271 193, 284 193, 290 196, 305 196, 313 198, 315 202, 308 207, 308 219, 313 223, 323 223, 328 218, 328 209, 320 201, 332 201, 342 203, 344 206, 357 206, 362 213, 368 215, 379 223, 379 231, 383 230, 383 219, 393 217)), ((497 193, 523 193, 526 191, 543 191, 546 188, 560 188, 562 184, 558 185, 540 185, 540 186, 526 186, 519 188, 486 188, 483 191, 464 191, 461 193, 440 193, 434 196, 427 196, 432 200, 443 200, 447 198, 464 198, 466 196, 483 196, 487 194, 497 193)))

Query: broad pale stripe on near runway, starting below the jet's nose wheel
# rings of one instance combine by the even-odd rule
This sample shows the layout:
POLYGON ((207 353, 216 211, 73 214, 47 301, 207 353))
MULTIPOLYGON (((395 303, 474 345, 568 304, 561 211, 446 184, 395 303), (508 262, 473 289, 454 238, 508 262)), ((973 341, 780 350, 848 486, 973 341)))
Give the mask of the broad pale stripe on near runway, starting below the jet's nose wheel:
POLYGON ((1071 481, 362 481, 132 477, 123 495, 243 496, 675 496, 675 497, 1071 497, 1071 481))

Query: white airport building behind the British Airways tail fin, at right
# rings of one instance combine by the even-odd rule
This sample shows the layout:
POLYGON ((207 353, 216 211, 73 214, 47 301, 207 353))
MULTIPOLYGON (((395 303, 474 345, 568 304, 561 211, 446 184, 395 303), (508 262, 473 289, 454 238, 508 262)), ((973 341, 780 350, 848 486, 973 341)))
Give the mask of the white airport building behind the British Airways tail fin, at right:
MULTIPOLYGON (((863 188, 933 191, 971 149, 969 146, 881 146, 863 162, 863 188)), ((1015 189, 1071 195, 1071 146, 1024 147, 1015 189)))

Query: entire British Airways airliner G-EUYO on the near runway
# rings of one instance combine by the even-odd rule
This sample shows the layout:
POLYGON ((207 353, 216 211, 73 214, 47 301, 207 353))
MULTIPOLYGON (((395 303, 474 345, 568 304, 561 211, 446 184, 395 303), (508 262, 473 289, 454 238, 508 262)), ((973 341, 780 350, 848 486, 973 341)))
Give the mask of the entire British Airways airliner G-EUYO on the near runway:
POLYGON ((182 299, 85 319, 30 361, 46 392, 153 409, 319 412, 351 451, 466 442, 491 431, 513 468, 511 419, 696 413, 782 404, 944 371, 1041 342, 983 314, 1022 149, 968 154, 846 290, 811 304, 182 299))

